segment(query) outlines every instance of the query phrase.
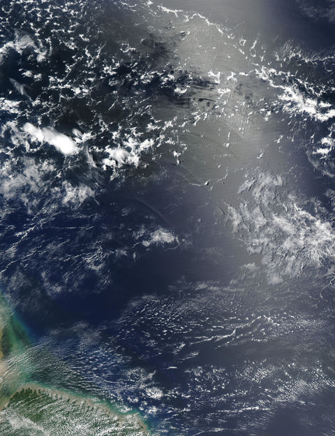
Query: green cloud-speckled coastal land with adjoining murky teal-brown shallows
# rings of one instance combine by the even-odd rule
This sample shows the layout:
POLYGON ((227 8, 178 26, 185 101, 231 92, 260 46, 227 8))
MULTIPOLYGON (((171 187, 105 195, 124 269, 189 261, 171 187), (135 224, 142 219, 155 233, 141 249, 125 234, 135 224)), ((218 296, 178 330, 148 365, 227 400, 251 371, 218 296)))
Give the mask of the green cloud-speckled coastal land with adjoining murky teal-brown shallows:
POLYGON ((137 413, 31 379, 36 362, 30 349, 26 331, 0 296, 1 436, 149 435, 137 413))

